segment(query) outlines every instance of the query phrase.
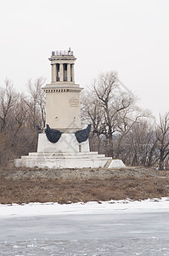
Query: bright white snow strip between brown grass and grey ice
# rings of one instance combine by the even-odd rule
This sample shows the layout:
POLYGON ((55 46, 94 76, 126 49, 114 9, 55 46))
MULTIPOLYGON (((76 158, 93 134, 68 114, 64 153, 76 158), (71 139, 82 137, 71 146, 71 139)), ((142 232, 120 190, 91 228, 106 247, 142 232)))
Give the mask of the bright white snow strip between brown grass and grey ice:
POLYGON ((90 201, 63 204, 29 203, 23 205, 0 205, 0 218, 33 217, 65 214, 101 214, 124 212, 169 212, 169 197, 145 201, 90 201))

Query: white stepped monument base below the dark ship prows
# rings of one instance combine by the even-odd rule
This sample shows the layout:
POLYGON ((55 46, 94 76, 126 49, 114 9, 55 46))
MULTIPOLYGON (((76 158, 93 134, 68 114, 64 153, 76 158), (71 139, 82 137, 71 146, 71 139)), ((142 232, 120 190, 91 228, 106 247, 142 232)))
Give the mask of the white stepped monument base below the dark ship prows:
POLYGON ((98 152, 90 152, 88 140, 78 143, 74 133, 63 133, 57 143, 50 143, 45 134, 39 134, 37 153, 15 160, 17 167, 38 168, 121 168, 121 160, 112 160, 98 152))

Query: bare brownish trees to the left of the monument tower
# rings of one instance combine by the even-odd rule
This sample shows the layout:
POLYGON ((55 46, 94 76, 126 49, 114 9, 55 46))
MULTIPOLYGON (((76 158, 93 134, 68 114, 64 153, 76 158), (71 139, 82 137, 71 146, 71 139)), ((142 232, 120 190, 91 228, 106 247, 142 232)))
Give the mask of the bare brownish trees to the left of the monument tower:
POLYGON ((0 166, 37 151, 36 125, 45 125, 45 79, 31 79, 27 93, 14 90, 9 79, 0 87, 0 166))

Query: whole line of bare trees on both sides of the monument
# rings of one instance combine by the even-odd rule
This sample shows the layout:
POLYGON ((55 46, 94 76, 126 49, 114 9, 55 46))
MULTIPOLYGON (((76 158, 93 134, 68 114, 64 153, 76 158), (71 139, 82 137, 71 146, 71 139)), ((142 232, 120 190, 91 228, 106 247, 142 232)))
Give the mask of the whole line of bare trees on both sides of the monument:
MULTIPOLYGON (((36 125, 45 124, 44 78, 27 83, 19 93, 6 79, 0 87, 0 165, 37 151, 36 125)), ((127 166, 168 168, 169 112, 159 120, 138 107, 132 92, 121 90, 115 72, 102 73, 82 91, 82 126, 92 124, 89 142, 92 151, 127 166)))

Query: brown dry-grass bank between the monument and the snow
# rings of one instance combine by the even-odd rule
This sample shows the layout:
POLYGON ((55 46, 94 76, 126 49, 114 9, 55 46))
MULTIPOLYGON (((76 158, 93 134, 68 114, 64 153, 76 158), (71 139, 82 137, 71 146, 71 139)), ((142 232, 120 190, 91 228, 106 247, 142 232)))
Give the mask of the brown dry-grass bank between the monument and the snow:
POLYGON ((169 196, 169 172, 125 169, 0 169, 0 203, 144 200, 169 196))

